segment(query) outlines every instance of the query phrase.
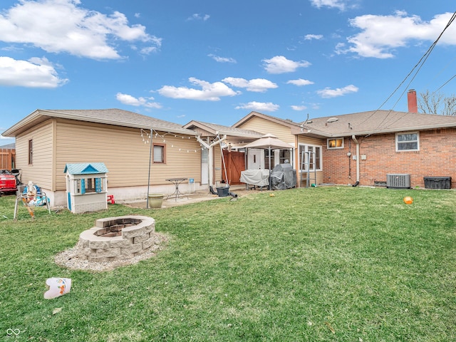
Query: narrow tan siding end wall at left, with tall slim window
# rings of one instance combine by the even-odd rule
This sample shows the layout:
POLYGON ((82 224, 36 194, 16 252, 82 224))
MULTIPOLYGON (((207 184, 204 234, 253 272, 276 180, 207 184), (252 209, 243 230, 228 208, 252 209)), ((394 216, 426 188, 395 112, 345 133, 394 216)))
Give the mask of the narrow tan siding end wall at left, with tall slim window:
POLYGON ((52 128, 49 120, 16 137, 16 167, 21 169, 22 182, 32 181, 39 187, 49 190, 52 190, 52 128), (31 165, 28 164, 29 140, 33 140, 31 165))

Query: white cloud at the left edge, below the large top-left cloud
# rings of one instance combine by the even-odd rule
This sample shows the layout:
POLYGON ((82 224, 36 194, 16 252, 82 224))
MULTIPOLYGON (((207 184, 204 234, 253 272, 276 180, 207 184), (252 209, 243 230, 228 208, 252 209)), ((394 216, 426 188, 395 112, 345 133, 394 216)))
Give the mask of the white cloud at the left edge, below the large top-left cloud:
POLYGON ((57 88, 67 83, 60 78, 56 69, 46 58, 31 58, 20 61, 10 57, 0 57, 0 86, 26 88, 57 88))

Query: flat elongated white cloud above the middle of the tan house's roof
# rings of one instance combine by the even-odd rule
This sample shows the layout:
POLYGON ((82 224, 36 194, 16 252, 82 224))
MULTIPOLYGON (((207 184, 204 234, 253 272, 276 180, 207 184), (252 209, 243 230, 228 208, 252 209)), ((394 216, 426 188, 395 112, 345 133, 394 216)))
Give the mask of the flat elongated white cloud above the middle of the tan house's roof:
POLYGON ((222 96, 234 96, 238 94, 222 82, 209 83, 194 77, 190 77, 188 80, 190 83, 200 86, 201 89, 162 86, 162 88, 157 91, 160 95, 167 98, 185 98, 188 100, 202 101, 218 101, 222 96))

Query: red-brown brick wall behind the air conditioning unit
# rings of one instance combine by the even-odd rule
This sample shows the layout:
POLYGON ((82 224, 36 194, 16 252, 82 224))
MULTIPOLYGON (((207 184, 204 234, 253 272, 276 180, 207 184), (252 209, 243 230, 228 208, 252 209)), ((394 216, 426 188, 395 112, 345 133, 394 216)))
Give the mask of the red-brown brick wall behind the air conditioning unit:
MULTIPOLYGON (((420 151, 396 152, 395 134, 357 137, 360 155, 360 184, 386 182, 388 173, 410 174, 412 187, 424 187, 423 177, 452 177, 456 188, 456 129, 420 132, 420 151)), ((340 150, 323 148, 323 182, 353 184, 356 182, 356 144, 346 138, 340 150), (347 152, 351 152, 351 157, 347 152)))

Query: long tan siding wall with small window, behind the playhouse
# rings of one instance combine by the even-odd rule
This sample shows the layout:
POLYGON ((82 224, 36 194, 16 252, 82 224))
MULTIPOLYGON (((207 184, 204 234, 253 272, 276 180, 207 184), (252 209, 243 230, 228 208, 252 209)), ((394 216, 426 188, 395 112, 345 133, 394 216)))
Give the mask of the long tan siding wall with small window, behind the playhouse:
MULTIPOLYGON (((142 140, 140 130, 58 120, 56 131, 58 190, 66 188, 63 170, 68 162, 104 162, 109 170, 108 187, 147 185, 150 143, 142 140)), ((194 137, 159 135, 164 138, 154 136, 152 141, 166 145, 166 164, 152 163, 150 184, 167 184, 166 179, 172 177, 191 177, 199 182, 199 142, 194 137)))

